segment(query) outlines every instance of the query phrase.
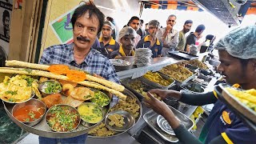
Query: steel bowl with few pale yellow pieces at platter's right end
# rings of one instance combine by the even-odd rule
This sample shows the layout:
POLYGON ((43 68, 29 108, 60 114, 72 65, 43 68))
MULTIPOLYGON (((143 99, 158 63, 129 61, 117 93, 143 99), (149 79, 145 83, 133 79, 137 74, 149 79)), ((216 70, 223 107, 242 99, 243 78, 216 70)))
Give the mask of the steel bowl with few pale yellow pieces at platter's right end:
POLYGON ((109 128, 110 130, 126 131, 126 130, 129 130, 132 126, 134 126, 135 119, 127 111, 124 111, 124 110, 114 110, 114 111, 111 111, 109 114, 106 115, 105 124, 106 124, 106 127, 109 128), (108 117, 110 115, 113 115, 113 114, 120 114, 120 115, 122 115, 122 117, 124 118, 123 121, 125 122, 122 127, 110 126, 110 119, 108 117))

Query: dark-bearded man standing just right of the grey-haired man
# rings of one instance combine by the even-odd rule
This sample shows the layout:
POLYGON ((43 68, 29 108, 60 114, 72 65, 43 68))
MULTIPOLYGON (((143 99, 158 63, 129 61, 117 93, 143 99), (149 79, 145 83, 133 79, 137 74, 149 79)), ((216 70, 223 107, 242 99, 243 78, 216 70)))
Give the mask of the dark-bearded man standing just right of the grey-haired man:
POLYGON ((193 25, 192 20, 186 20, 183 26, 183 30, 181 30, 178 34, 178 46, 175 48, 175 50, 181 50, 184 51, 185 45, 186 45, 186 37, 185 34, 190 31, 191 26, 193 25))

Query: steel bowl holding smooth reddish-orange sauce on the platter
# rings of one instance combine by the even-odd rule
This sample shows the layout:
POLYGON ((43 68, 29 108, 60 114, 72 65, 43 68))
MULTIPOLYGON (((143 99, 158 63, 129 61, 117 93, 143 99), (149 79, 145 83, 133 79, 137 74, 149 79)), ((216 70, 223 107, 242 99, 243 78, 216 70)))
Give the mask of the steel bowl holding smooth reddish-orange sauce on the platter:
MULTIPOLYGON (((18 103, 18 104, 16 104, 16 105, 13 107, 13 109, 12 109, 12 114, 14 115, 14 112, 15 112, 15 111, 21 109, 21 108, 24 107, 24 106, 29 106, 29 105, 37 106, 38 108, 43 108, 43 109, 44 109, 44 110, 43 110, 43 114, 41 115, 40 118, 38 118, 38 119, 36 119, 36 120, 34 120, 34 121, 32 121, 32 122, 23 122, 23 123, 26 123, 26 125, 28 125, 28 126, 34 126, 34 125, 38 124, 38 122, 40 122, 40 121, 42 120, 44 114, 46 114, 46 105, 45 105, 44 102, 42 102, 42 101, 40 101, 40 100, 38 100, 38 99, 32 98, 32 99, 30 99, 30 100, 27 101, 27 102, 18 103)), ((15 117, 14 117, 14 118, 15 118, 15 117)), ((15 119, 17 119, 17 118, 15 118, 15 119)), ((17 119, 17 120, 18 120, 18 119, 17 119)), ((21 122, 21 121, 19 121, 19 122, 21 122)))

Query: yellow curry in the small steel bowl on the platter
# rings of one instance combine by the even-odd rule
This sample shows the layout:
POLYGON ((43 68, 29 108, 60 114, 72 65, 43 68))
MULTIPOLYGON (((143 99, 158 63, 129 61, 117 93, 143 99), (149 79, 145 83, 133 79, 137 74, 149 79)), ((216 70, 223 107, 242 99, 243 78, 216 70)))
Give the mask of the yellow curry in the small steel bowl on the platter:
POLYGON ((88 123, 98 123, 102 121, 102 109, 90 102, 84 102, 78 106, 78 113, 81 119, 88 123))

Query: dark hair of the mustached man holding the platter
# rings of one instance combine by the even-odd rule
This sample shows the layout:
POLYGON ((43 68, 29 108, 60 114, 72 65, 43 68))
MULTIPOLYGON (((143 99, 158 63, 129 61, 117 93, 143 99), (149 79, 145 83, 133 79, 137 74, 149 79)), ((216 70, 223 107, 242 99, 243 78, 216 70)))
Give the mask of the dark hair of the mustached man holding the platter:
POLYGON ((85 4, 82 6, 79 6, 76 10, 74 10, 74 14, 71 18, 71 23, 74 29, 74 23, 77 21, 78 18, 80 18, 83 14, 89 13, 89 18, 92 15, 95 15, 98 18, 99 26, 98 26, 98 33, 102 30, 103 22, 105 19, 105 15, 102 13, 101 10, 98 10, 98 8, 90 2, 90 4, 85 4))

